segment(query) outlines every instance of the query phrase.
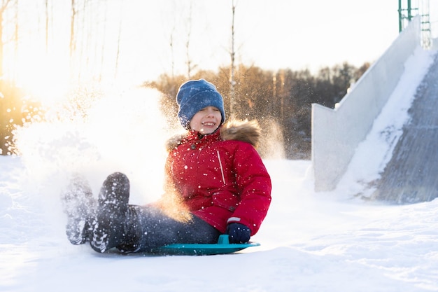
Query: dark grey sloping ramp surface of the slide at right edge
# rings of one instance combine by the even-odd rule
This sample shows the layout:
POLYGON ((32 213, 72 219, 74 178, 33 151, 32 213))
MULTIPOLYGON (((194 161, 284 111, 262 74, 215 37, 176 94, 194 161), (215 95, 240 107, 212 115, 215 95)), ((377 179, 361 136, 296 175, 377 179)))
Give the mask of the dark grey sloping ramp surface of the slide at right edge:
POLYGON ((376 199, 409 203, 438 197, 438 55, 418 87, 409 116, 377 183, 376 199))

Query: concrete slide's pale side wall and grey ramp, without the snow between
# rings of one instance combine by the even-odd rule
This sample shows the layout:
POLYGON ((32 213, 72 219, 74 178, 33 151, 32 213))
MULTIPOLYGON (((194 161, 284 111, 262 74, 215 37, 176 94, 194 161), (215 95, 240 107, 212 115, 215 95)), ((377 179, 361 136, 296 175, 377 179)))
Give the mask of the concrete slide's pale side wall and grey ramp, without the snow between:
MULTIPOLYGON (((312 166, 316 190, 336 188, 355 149, 400 80, 404 62, 418 48, 420 34, 417 17, 336 109, 313 104, 312 166)), ((438 197, 438 54, 418 84, 409 116, 390 161, 376 181, 372 195, 375 200, 406 204, 438 197)))

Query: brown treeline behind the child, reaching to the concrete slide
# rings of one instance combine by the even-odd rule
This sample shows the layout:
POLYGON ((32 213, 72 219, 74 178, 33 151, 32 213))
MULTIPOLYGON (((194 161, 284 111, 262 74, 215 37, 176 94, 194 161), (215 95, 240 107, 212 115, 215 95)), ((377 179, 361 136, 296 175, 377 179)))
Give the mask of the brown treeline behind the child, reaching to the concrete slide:
MULTIPOLYGON (((309 69, 269 71, 240 64, 234 70, 233 87, 229 84, 229 67, 221 67, 217 72, 200 70, 191 78, 204 78, 215 84, 224 97, 228 119, 257 120, 262 126, 264 140, 281 141, 285 158, 310 159, 311 104, 333 109, 369 65, 366 62, 355 67, 344 62, 311 74, 309 69), (233 95, 230 90, 234 90, 233 95), (276 137, 273 137, 274 133, 276 137)), ((178 112, 176 93, 186 80, 186 76, 162 74, 156 81, 143 85, 162 92, 160 108, 165 116, 174 119, 178 112)))

